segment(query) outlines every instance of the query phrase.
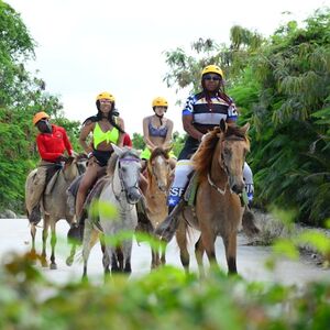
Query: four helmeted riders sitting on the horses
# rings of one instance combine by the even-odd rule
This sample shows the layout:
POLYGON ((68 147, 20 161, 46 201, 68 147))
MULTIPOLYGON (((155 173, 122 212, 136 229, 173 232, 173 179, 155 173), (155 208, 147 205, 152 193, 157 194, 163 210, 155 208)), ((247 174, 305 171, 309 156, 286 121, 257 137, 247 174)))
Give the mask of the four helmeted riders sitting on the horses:
MULTIPOLYGON (((183 110, 183 127, 187 133, 185 145, 176 161, 170 152, 170 166, 175 168, 174 180, 168 191, 168 218, 176 216, 183 191, 187 185, 189 174, 193 170, 190 157, 199 147, 205 134, 213 127, 219 125, 221 119, 228 124, 238 119, 238 110, 233 100, 224 91, 224 79, 221 68, 217 65, 208 65, 201 72, 201 91, 191 95, 186 101, 183 110)), ((97 114, 87 118, 80 131, 79 143, 88 157, 88 166, 84 174, 76 196, 76 217, 82 222, 82 209, 86 196, 99 176, 105 173, 108 160, 113 148, 112 143, 118 146, 132 146, 130 136, 124 131, 124 121, 116 109, 114 97, 109 92, 101 92, 96 98, 97 114), (91 142, 88 138, 91 135, 91 142)), ((154 147, 164 148, 170 146, 173 134, 173 121, 165 117, 168 103, 163 97, 152 101, 154 113, 143 119, 143 136, 146 144, 141 153, 141 161, 145 167, 154 147)), ((51 124, 50 116, 42 111, 33 117, 33 124, 40 131, 36 144, 41 156, 37 173, 33 186, 33 210, 29 220, 37 223, 41 220, 40 201, 45 189, 47 168, 50 166, 61 167, 68 156, 74 154, 72 144, 65 129, 51 124)), ((249 204, 253 199, 253 179, 249 165, 244 164, 245 190, 249 204)), ((145 180, 141 176, 141 188, 145 180)))

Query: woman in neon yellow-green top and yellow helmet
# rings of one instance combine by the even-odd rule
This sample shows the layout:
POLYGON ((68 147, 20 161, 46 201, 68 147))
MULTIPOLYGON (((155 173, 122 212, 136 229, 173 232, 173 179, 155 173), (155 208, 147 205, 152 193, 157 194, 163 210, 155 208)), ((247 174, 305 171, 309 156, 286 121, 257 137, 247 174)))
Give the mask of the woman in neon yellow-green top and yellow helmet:
POLYGON ((98 113, 85 120, 79 136, 79 143, 89 158, 76 198, 76 216, 79 221, 82 221, 82 206, 88 190, 105 170, 113 152, 111 143, 118 146, 123 145, 124 122, 113 113, 114 97, 109 92, 101 92, 96 98, 96 106, 98 113), (90 134, 92 134, 91 143, 87 141, 90 134))

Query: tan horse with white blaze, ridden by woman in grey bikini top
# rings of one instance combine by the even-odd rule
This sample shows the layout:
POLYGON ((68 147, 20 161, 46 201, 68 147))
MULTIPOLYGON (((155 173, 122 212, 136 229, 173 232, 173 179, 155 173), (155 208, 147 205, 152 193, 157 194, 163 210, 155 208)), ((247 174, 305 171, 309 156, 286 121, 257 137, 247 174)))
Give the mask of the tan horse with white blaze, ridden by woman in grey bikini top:
MULTIPOLYGON (((169 148, 156 147, 152 151, 147 162, 147 189, 145 193, 146 215, 153 229, 157 228, 168 213, 167 191, 170 185, 169 148)), ((153 234, 153 232, 152 232, 153 234)), ((154 235, 155 237, 155 235, 154 235)), ((155 237, 156 238, 156 237, 155 237)), ((165 264, 165 249, 162 245, 162 258, 160 249, 152 248, 152 268, 165 264)))

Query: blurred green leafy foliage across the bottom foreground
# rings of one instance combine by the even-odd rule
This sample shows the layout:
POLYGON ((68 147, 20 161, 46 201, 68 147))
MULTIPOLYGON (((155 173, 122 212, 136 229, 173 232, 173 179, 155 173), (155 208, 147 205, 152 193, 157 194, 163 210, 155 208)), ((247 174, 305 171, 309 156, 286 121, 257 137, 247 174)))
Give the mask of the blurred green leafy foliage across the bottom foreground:
POLYGON ((105 285, 46 282, 35 256, 14 256, 0 272, 1 329, 327 329, 329 283, 305 287, 208 277, 166 266, 105 285), (44 294, 45 293, 45 294, 44 294))

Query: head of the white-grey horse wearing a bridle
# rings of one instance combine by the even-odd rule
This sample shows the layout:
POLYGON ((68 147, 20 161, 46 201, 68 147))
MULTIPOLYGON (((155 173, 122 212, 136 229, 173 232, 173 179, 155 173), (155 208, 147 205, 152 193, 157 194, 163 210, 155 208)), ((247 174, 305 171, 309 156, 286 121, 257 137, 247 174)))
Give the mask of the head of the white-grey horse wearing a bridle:
POLYGON ((142 194, 139 188, 141 174, 141 161, 138 151, 129 147, 119 147, 112 144, 113 151, 118 156, 116 172, 121 183, 122 191, 129 204, 136 204, 142 194))

